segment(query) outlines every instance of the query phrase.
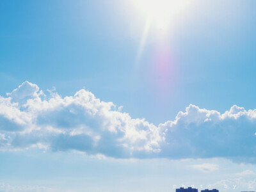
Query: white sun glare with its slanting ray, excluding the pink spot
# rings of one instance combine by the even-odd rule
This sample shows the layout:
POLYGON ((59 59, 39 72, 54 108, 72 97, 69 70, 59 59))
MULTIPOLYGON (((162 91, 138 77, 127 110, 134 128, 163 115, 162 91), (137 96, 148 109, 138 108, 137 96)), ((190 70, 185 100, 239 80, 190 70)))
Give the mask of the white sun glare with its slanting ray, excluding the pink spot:
MULTIPOLYGON (((134 6, 145 17, 145 26, 136 55, 135 67, 140 63, 150 30, 156 31, 159 44, 165 42, 172 33, 175 22, 184 15, 189 0, 132 0, 134 6)), ((161 47, 163 49, 163 47, 161 47)), ((162 60, 159 58, 159 60, 162 60)))

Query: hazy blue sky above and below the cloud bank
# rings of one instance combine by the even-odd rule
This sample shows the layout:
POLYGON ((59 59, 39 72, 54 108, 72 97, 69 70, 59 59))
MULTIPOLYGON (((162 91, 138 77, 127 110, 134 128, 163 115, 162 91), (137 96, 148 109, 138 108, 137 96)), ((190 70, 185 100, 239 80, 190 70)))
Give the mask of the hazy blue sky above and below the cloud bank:
MULTIPOLYGON (((129 0, 1 0, 0 95, 6 97, 24 81, 44 92, 54 86, 62 97, 84 88, 156 127, 175 120, 189 104, 220 113, 234 105, 255 109, 255 10, 256 1, 194 1, 173 19, 166 38, 161 38, 162 29, 149 29, 136 61, 146 19, 129 0), (162 50, 170 62, 159 69, 162 50)), ((16 129, 4 120, 1 124, 16 129)), ((254 130, 253 124, 246 126, 254 130)), ((246 142, 253 152, 254 143, 246 142)), ((173 184, 216 183, 220 192, 249 191, 248 184, 255 189, 255 164, 244 157, 230 160, 237 150, 232 147, 218 156, 210 152, 210 159, 174 160, 103 158, 73 150, 3 150, 0 191, 160 192, 173 191, 173 184), (226 190, 224 183, 239 187, 226 190)))

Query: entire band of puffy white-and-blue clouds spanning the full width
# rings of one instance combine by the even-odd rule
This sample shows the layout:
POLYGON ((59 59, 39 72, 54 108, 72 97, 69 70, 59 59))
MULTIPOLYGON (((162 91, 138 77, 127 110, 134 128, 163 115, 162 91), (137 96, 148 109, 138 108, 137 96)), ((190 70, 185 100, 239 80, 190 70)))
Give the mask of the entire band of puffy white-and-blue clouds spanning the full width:
MULTIPOLYGON (((172 119, 170 117, 170 119, 172 119)), ((22 83, 0 96, 0 149, 77 150, 116 158, 226 157, 255 162, 256 110, 221 114, 189 105, 174 120, 150 124, 87 90, 61 97, 22 83)))

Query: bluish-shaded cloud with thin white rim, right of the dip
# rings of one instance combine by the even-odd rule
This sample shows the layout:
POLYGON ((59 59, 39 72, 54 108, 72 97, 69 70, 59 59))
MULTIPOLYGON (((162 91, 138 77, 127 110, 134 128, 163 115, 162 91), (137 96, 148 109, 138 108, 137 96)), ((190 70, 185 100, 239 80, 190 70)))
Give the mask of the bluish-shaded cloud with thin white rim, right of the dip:
POLYGON ((221 114, 189 105, 174 121, 160 124, 165 130, 163 156, 227 157, 255 161, 256 111, 232 106, 221 114))

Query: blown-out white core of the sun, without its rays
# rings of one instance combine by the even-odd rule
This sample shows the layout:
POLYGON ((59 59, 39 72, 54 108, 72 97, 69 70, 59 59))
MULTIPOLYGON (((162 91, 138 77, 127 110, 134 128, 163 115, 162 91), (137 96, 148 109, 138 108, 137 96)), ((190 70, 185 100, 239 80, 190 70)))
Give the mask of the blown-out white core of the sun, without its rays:
POLYGON ((168 29, 189 0, 132 0, 140 12, 156 28, 168 29))

